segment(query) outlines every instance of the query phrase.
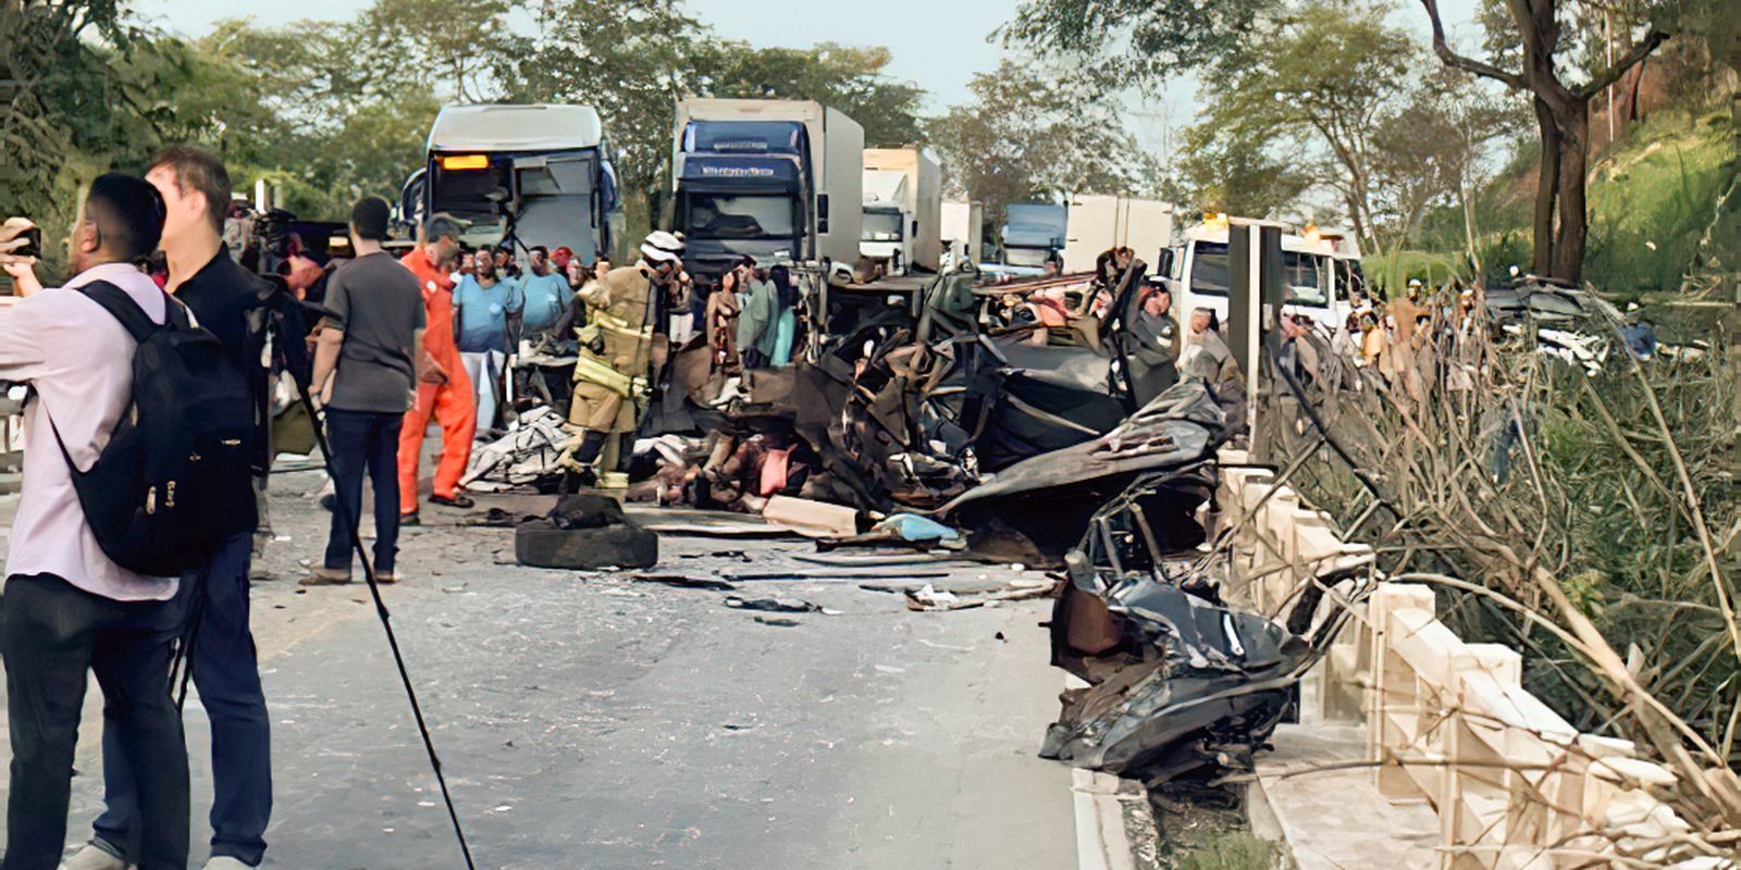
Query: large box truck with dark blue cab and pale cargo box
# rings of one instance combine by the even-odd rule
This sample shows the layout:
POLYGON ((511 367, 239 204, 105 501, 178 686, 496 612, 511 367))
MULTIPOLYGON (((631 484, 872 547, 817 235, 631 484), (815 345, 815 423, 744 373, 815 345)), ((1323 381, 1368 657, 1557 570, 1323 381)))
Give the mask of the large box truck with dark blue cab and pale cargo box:
POLYGON ((796 99, 684 99, 670 228, 709 278, 745 254, 851 268, 864 209, 864 129, 796 99))

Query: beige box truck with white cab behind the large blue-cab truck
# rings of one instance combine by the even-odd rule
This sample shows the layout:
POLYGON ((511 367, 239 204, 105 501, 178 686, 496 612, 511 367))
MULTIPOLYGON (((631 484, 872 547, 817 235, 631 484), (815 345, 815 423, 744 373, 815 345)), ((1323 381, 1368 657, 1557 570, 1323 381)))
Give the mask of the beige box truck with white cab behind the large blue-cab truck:
POLYGON ((919 148, 867 148, 860 256, 890 275, 937 271, 944 254, 944 172, 919 148))

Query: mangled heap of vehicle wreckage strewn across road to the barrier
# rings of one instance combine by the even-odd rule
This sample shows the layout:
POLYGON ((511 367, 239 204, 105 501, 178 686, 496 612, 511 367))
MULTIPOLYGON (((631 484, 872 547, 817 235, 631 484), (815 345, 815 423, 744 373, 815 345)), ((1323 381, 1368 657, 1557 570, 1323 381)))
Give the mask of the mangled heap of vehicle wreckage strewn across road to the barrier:
MULTIPOLYGON (((651 404, 627 498, 855 512, 857 529, 851 513, 820 522, 818 550, 965 545, 1062 566, 1052 663, 1090 687, 1064 696, 1043 755, 1151 783, 1247 771, 1346 611, 1314 593, 1278 623, 1222 600, 1200 517, 1243 383, 1132 378, 1142 287, 1140 261, 1116 280, 945 273, 911 308, 855 311, 797 365, 729 379, 691 341, 651 404), (1062 325, 1024 317, 1041 296, 1062 325)), ((534 412, 477 472, 526 485, 561 449, 555 414, 534 412)))

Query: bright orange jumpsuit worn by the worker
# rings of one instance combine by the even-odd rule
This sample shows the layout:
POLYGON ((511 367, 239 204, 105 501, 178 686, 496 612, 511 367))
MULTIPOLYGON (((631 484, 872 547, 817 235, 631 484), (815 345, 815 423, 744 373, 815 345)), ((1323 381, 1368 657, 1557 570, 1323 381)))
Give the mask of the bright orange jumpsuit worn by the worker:
POLYGON ((440 423, 440 463, 435 466, 435 494, 453 498, 472 461, 472 437, 477 433, 477 397, 472 379, 460 362, 460 346, 453 341, 453 280, 430 264, 428 252, 413 249, 399 259, 423 285, 423 311, 428 327, 423 331, 423 348, 447 374, 447 383, 418 383, 418 400, 406 411, 406 425, 399 430, 399 513, 418 510, 418 458, 423 452, 423 435, 430 416, 440 423))

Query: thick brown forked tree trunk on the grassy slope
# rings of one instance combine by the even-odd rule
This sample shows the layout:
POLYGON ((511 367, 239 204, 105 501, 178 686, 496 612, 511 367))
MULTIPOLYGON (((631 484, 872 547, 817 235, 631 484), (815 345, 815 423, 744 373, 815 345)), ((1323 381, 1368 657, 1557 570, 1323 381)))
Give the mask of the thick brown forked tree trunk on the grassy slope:
POLYGON ((1438 0, 1421 0, 1421 5, 1433 26, 1433 50, 1447 66, 1492 78, 1530 96, 1541 134, 1534 271, 1565 282, 1581 280, 1590 233, 1590 211, 1584 200, 1590 172, 1590 101, 1644 63, 1668 40, 1668 33, 1650 28, 1612 64, 1572 85, 1562 75, 1560 57, 1562 52, 1574 49, 1570 40, 1563 38, 1565 14, 1572 0, 1506 0, 1508 16, 1499 21, 1515 28, 1516 50, 1508 54, 1515 54, 1516 64, 1511 68, 1459 54, 1445 38, 1438 0))

